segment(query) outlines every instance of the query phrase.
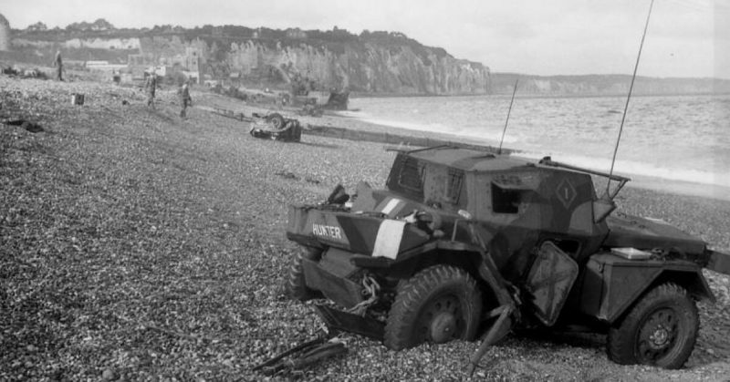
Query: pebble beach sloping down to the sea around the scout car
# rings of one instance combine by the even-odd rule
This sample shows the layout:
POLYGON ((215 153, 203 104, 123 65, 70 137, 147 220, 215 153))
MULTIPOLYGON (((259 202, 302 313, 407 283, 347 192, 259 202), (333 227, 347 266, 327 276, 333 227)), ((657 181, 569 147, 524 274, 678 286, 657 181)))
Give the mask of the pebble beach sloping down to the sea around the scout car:
MULTIPOLYGON (((0 379, 266 380, 256 364, 317 334, 311 306, 282 288, 297 246, 287 205, 342 184, 382 187, 392 145, 303 135, 255 139, 266 108, 174 88, 146 107, 140 88, 0 77, 0 379), (71 94, 85 94, 71 105, 71 94), (27 125, 26 125, 27 126, 27 125)), ((303 125, 402 131, 326 115, 303 125)), ((730 201, 632 187, 619 210, 662 219, 730 253, 730 201)), ((511 335, 474 380, 728 380, 730 276, 704 271, 700 336, 686 366, 619 366, 601 336, 511 335)), ((349 353, 274 380, 463 380, 478 343, 393 352, 354 335, 349 353)))

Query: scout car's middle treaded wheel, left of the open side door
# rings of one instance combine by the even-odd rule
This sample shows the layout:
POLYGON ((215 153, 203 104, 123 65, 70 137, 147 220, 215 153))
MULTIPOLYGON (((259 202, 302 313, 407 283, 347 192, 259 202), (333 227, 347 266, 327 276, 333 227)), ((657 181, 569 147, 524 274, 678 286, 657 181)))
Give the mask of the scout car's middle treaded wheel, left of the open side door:
POLYGON ((481 313, 474 277, 461 268, 434 265, 398 285, 383 343, 400 350, 423 342, 472 340, 481 313))

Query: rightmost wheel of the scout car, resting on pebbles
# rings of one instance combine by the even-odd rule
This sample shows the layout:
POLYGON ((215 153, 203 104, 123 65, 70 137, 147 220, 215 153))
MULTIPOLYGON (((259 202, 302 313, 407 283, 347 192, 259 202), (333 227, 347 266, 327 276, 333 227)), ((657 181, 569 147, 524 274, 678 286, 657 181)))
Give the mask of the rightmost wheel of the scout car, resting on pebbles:
POLYGON ((694 348, 699 323, 687 291, 677 284, 661 284, 610 328, 609 358, 622 365, 682 367, 694 348))

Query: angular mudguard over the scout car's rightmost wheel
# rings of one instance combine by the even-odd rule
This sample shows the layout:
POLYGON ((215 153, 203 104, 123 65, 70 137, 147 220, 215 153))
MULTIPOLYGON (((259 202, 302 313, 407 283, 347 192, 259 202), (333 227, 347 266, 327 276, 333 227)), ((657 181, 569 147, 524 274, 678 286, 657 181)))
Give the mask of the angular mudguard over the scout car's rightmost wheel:
POLYGON ((702 268, 681 260, 628 260, 611 253, 590 257, 580 291, 580 311, 612 324, 655 282, 681 284, 697 296, 714 301, 702 268))

